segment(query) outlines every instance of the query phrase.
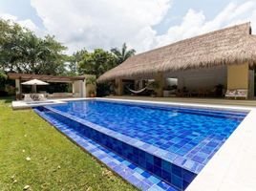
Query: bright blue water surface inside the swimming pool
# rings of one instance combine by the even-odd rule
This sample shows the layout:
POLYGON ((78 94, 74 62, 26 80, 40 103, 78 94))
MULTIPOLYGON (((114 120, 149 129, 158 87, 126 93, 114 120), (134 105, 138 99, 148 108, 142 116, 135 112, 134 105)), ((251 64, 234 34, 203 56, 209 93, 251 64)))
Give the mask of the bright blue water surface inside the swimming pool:
POLYGON ((246 116, 195 108, 99 100, 48 106, 205 165, 246 116))

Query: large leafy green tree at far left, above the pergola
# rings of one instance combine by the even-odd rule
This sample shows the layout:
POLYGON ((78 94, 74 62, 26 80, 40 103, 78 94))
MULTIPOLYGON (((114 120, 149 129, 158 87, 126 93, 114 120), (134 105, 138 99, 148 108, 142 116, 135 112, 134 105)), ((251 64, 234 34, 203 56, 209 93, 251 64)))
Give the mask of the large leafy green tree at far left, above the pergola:
POLYGON ((5 72, 62 74, 65 50, 53 36, 39 38, 16 23, 0 19, 0 61, 5 72))

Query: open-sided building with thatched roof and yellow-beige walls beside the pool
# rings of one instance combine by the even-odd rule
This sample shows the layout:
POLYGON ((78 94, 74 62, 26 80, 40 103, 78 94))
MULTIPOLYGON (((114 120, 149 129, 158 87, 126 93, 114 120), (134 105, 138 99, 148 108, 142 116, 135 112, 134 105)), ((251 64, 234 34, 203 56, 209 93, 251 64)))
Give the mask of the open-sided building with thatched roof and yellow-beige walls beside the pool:
POLYGON ((115 81, 116 96, 156 81, 156 96, 254 99, 255 63, 256 36, 245 23, 139 53, 97 80, 115 81))

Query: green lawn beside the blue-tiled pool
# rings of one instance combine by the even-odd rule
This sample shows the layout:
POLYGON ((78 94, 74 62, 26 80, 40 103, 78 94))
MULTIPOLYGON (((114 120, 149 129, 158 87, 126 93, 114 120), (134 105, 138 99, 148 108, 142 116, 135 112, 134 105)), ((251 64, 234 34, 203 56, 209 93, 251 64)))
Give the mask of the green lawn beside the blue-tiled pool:
POLYGON ((0 99, 1 190, 136 190, 32 110, 0 99), (30 158, 31 160, 27 160, 30 158))

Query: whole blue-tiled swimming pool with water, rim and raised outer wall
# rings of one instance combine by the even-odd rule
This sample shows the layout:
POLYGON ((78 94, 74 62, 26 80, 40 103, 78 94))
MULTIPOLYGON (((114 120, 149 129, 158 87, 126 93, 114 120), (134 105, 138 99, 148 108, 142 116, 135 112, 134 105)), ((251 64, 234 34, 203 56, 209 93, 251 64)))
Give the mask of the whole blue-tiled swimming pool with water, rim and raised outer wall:
POLYGON ((200 173, 247 115, 241 111, 101 100, 70 101, 45 106, 41 111, 67 121, 87 138, 178 190, 184 190, 200 173))

